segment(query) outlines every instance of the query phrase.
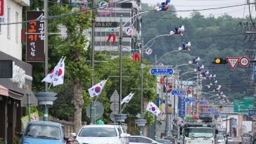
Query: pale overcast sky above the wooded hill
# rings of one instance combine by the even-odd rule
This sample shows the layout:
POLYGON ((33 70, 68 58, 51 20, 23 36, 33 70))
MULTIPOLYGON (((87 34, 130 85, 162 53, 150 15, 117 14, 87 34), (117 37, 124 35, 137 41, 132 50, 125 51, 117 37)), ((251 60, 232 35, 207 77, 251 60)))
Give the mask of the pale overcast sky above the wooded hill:
MULTIPOLYGON (((156 6, 156 4, 160 4, 165 0, 141 0, 142 3, 147 3, 151 6, 156 6)), ((196 10, 203 8, 219 8, 224 6, 235 6, 240 4, 245 4, 247 0, 171 0, 170 4, 172 4, 177 11, 184 10, 196 10)), ((252 1, 252 0, 250 0, 252 1)), ((252 10, 252 5, 251 5, 252 10)), ((189 17, 191 12, 178 12, 177 15, 181 15, 181 17, 189 17)), ((202 15, 205 17, 210 14, 218 17, 224 15, 224 13, 231 15, 234 18, 245 18, 246 15, 249 15, 249 7, 248 6, 237 6, 232 8, 221 8, 217 10, 206 10, 200 11, 202 15)), ((251 12, 252 16, 256 16, 255 7, 251 12)))

